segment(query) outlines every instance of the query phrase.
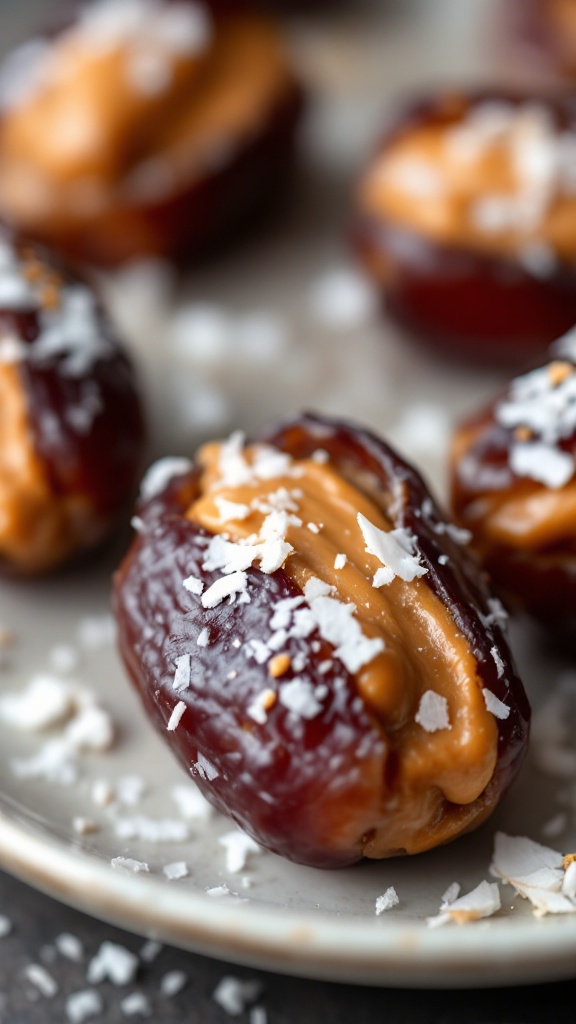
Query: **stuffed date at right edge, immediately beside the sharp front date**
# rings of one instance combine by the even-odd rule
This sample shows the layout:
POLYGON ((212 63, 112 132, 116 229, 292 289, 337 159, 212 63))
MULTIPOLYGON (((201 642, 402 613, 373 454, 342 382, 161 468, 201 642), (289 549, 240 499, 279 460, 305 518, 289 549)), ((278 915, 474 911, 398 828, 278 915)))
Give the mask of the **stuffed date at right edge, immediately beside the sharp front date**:
POLYGON ((494 586, 553 635, 576 637, 576 335, 462 422, 452 507, 494 586))

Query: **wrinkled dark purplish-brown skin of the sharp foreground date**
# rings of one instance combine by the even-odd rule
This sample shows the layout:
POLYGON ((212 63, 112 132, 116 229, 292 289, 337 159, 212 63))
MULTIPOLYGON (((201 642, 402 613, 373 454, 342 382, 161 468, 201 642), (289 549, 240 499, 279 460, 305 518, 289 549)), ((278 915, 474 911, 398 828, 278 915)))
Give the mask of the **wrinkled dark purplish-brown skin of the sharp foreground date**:
MULTIPOLYGON (((512 707, 509 718, 498 722, 498 763, 480 798, 492 807, 522 762, 530 712, 499 627, 487 630, 482 624, 488 594, 475 564, 446 536, 440 548, 433 525, 443 517, 436 506, 427 519, 419 514, 429 497, 423 481, 382 441, 343 423, 303 416, 255 440, 294 458, 322 447, 332 465, 373 474, 388 503, 393 487, 402 495, 395 526, 416 534, 428 586, 453 609, 484 684, 512 707), (441 551, 449 553, 449 565, 438 564, 441 551), (500 679, 490 653, 494 643, 505 665, 500 679)), ((362 857, 370 828, 380 823, 382 808, 394 796, 394 737, 359 699, 355 677, 342 666, 334 662, 328 674, 320 671, 332 649, 318 634, 291 639, 287 649, 292 656, 305 654, 300 676, 315 685, 328 684, 325 711, 298 720, 296 727, 280 703, 264 724, 247 719, 244 709, 270 685, 270 677, 265 666, 248 659, 233 641, 268 635, 277 600, 301 592, 284 569, 266 575, 252 568, 251 603, 224 602, 204 610, 199 599, 192 602, 182 580, 194 574, 209 585, 217 575, 202 567, 206 532, 183 517, 198 489, 199 475, 192 471, 139 510, 142 530, 116 573, 113 594, 128 674, 160 735, 219 811, 288 859, 323 868, 352 864, 362 857), (210 642, 198 647, 203 628, 210 642), (174 663, 190 652, 191 684, 176 694, 174 663), (179 699, 186 711, 175 731, 167 732, 179 699)))

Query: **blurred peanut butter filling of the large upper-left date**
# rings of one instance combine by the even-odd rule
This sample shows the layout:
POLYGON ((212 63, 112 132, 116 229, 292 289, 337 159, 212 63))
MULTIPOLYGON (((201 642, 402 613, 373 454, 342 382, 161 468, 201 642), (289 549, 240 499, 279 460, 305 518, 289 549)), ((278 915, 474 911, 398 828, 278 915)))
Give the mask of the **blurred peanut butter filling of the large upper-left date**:
POLYGON ((66 224, 154 202, 217 168, 291 85, 264 18, 224 18, 197 47, 140 52, 63 33, 0 132, 0 204, 23 225, 66 224))

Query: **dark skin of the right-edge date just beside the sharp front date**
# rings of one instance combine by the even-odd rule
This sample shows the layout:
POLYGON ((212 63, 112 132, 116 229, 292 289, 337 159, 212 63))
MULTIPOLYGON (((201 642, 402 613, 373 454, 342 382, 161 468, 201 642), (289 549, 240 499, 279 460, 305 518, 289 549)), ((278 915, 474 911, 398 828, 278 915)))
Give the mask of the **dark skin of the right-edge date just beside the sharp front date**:
MULTIPOLYGON (((456 519, 472 526, 482 562, 494 587, 510 606, 523 610, 568 648, 576 645, 576 547, 574 541, 513 549, 488 542, 466 517, 470 503, 488 494, 522 498, 534 484, 517 477, 508 463, 512 433, 495 419, 495 407, 462 422, 459 430, 475 433, 471 444, 453 462, 451 505, 456 519)), ((458 436, 458 432, 456 437, 458 436)), ((574 453, 576 433, 558 444, 574 453)), ((540 489, 544 489, 543 486, 540 489)))

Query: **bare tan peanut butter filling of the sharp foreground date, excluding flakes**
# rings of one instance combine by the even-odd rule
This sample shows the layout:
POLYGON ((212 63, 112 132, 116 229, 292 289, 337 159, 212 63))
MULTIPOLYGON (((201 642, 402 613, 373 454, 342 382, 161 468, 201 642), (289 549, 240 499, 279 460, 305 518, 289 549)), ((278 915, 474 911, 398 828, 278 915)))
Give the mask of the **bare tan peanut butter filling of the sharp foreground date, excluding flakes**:
MULTIPOLYGON (((441 823, 446 801, 477 801, 497 756, 496 721, 487 710, 466 640, 423 579, 407 583, 397 574, 386 586, 373 586, 383 563, 367 552, 358 514, 385 532, 393 523, 383 505, 355 480, 310 459, 289 461, 270 478, 248 474, 241 482, 227 482, 220 475, 221 454, 218 444, 202 450, 202 493, 188 517, 212 535, 252 543, 265 532, 266 515, 281 499, 290 510, 284 540, 293 549, 284 571, 302 590, 315 580, 334 588, 340 602, 355 606, 364 636, 381 641, 381 649, 355 677, 394 749, 398 774, 383 798, 381 828, 366 838, 366 855, 416 852, 448 840, 461 830, 466 811, 455 808, 441 823), (430 724, 422 718, 428 691, 443 705, 445 720, 430 724)), ((245 450, 244 458, 255 465, 258 449, 245 450)), ((275 679, 278 664, 270 667, 271 679, 281 687, 286 667, 275 679)), ((470 821, 487 812, 476 807, 470 821)))

